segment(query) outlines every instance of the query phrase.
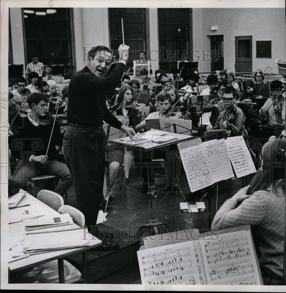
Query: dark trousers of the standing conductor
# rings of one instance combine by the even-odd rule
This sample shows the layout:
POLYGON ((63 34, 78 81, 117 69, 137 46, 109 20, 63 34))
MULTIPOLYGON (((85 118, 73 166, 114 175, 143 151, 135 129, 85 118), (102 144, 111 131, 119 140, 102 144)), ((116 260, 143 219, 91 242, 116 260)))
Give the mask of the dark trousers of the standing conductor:
POLYGON ((104 141, 102 129, 68 126, 64 134, 64 158, 74 180, 76 205, 92 234, 96 233, 94 227, 103 194, 104 141))

